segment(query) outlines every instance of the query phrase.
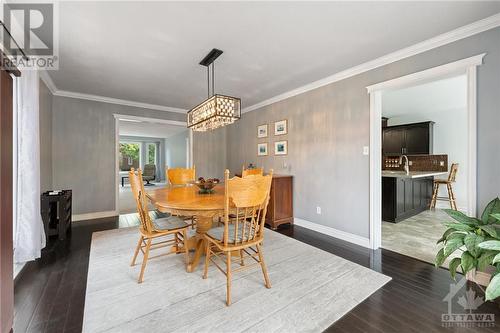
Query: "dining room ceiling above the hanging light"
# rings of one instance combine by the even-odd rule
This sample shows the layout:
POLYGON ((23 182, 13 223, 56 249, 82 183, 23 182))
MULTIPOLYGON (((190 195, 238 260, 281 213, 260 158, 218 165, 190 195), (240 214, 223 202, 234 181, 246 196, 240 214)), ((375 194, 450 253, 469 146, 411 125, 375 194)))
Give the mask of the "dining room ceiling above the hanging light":
POLYGON ((60 2, 58 90, 189 109, 248 107, 500 12, 500 2, 60 2))

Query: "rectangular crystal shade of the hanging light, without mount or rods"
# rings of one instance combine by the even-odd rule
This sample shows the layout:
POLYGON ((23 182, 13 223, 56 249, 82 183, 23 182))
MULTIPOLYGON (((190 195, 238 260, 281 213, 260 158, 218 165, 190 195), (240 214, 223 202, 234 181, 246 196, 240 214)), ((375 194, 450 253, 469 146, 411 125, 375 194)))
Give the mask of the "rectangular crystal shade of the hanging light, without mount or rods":
POLYGON ((241 117, 241 100, 225 95, 213 95, 188 112, 188 128, 204 132, 230 125, 241 117))

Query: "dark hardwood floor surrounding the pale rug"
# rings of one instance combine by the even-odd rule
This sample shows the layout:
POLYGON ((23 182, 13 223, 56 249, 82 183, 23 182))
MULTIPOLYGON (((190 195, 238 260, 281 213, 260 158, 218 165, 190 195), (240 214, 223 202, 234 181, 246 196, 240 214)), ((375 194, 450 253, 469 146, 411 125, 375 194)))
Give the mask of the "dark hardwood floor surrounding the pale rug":
MULTIPOLYGON (((14 332, 81 331, 92 233, 118 227, 118 218, 79 222, 74 224, 67 241, 49 242, 42 258, 29 263, 16 281, 14 332)), ((448 312, 443 298, 453 282, 447 270, 388 250, 371 251, 297 226, 281 226, 278 231, 392 277, 392 281, 330 326, 328 332, 499 331, 499 306, 491 302, 474 313, 494 314, 495 327, 442 327, 441 314, 448 312)), ((481 295, 480 290, 476 291, 481 295)), ((456 303, 463 294, 461 290, 455 296, 454 313, 465 313, 456 303)))

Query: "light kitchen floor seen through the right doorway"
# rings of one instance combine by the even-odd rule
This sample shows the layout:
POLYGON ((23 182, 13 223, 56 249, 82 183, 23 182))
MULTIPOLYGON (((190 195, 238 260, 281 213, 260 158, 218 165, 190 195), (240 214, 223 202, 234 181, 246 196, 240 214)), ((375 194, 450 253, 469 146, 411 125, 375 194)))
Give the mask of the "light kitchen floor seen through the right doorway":
MULTIPOLYGON (((436 242, 446 227, 445 221, 453 221, 444 211, 426 210, 399 223, 382 222, 382 247, 406 256, 434 264, 436 253, 442 247, 436 242)), ((442 265, 448 268, 450 260, 460 256, 457 251, 442 265)))

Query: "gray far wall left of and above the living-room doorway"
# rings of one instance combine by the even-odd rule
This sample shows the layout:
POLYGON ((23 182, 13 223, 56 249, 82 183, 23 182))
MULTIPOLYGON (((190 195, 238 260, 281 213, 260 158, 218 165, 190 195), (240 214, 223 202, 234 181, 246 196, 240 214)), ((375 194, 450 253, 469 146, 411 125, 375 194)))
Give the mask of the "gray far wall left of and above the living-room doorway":
POLYGON ((185 121, 186 115, 53 97, 53 185, 73 190, 73 213, 115 210, 113 114, 185 121))

